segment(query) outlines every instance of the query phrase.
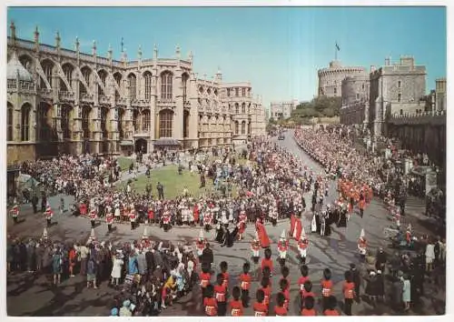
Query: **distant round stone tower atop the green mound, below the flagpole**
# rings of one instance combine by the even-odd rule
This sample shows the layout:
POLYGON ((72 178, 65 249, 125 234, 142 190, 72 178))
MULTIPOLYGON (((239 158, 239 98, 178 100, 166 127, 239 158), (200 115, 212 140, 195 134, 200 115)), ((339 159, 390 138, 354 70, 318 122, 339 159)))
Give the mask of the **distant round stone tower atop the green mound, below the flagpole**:
POLYGON ((319 96, 341 97, 342 81, 350 76, 367 75, 366 69, 361 66, 342 66, 340 61, 334 60, 328 68, 318 71, 319 96))

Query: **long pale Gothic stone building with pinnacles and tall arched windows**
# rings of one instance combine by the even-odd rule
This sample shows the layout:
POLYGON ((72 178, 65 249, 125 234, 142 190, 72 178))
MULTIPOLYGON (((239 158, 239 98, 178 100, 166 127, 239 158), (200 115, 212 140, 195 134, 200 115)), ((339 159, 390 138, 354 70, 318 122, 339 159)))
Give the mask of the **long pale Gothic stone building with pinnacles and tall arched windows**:
POLYGON ((151 152, 156 141, 208 148, 245 142, 265 134, 265 110, 248 82, 224 83, 198 77, 193 56, 128 60, 91 55, 39 41, 7 40, 7 162, 58 154, 120 155, 151 152), (174 141, 173 140, 173 141, 174 141), (172 141, 172 140, 170 140, 172 141))

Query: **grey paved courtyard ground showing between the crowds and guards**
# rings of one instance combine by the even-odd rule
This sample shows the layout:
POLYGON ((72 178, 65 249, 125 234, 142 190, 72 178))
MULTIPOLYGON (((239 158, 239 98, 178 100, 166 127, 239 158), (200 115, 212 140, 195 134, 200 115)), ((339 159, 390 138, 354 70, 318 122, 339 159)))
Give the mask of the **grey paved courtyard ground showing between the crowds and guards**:
MULTIPOLYGON (((296 146, 292 136, 288 134, 284 141, 279 141, 279 144, 293 151, 297 156, 301 157, 308 166, 311 166, 316 171, 320 171, 320 166, 311 158, 305 155, 301 149, 296 146)), ((141 169, 144 171, 144 169, 141 169)), ((123 175, 124 177, 126 175, 123 175)), ((329 202, 336 198, 335 184, 331 184, 329 202)), ((310 197, 306 196, 306 202, 310 204, 310 197)), ((66 205, 73 202, 70 197, 65 197, 66 205)), ((50 202, 54 209, 59 204, 59 196, 51 198, 50 202)), ((423 206, 416 199, 409 199, 410 206, 408 207, 409 215, 406 220, 410 221, 415 229, 420 233, 428 232, 428 225, 424 222, 425 218, 422 215, 423 206)), ((8 233, 17 236, 41 236, 44 228, 44 218, 41 214, 34 215, 31 213, 30 207, 23 206, 21 210, 25 214, 25 222, 17 226, 13 226, 11 219, 8 218, 8 233)), ((72 238, 80 240, 90 234, 90 222, 84 218, 75 218, 56 214, 54 220, 57 225, 48 229, 49 236, 60 240, 72 238)), ((305 230, 310 232, 311 215, 303 218, 305 230)), ((349 269, 350 263, 358 263, 357 257, 357 239, 360 235, 360 229, 364 228, 366 238, 369 240, 370 249, 375 251, 377 247, 387 247, 388 242, 383 238, 383 227, 389 226, 390 221, 386 218, 386 212, 380 200, 374 199, 371 205, 367 208, 365 216, 361 219, 360 216, 351 216, 347 228, 337 228, 333 226, 333 231, 329 237, 321 237, 318 235, 309 234, 310 247, 308 250, 308 266, 310 268, 310 277, 314 282, 314 291, 320 293, 318 281, 321 279, 321 272, 324 268, 329 267, 333 272, 332 280, 335 283, 334 293, 339 300, 341 297, 341 285, 343 282, 343 273, 349 269)), ((268 234, 271 237, 273 244, 271 249, 273 257, 277 254, 277 241, 281 235, 282 229, 288 230, 290 223, 288 220, 282 221, 276 227, 267 226, 268 234)), ((95 229, 96 236, 103 240, 106 237, 107 227, 105 224, 97 226, 95 229)), ((173 227, 170 233, 164 233, 157 226, 149 227, 148 233, 152 238, 160 240, 171 240, 174 243, 183 241, 193 241, 199 235, 199 229, 187 227, 173 227)), ((109 236, 114 241, 126 241, 136 239, 143 234, 143 226, 138 227, 135 231, 131 231, 130 226, 117 225, 117 229, 113 235, 109 236)), ((246 241, 236 242, 232 248, 222 248, 217 243, 212 243, 212 248, 215 257, 216 267, 219 267, 221 261, 229 263, 229 272, 231 274, 231 285, 233 287, 238 284, 236 277, 242 271, 242 264, 250 260, 250 240, 254 235, 254 227, 248 226, 246 229, 246 241)), ((288 266, 291 269, 291 315, 299 315, 298 306, 296 305, 296 296, 298 287, 296 280, 300 277, 299 263, 296 259, 298 252, 296 243, 291 242, 291 251, 288 257, 288 266), (294 300, 293 300, 294 298, 294 300)), ((263 253, 261 253, 261 257, 263 253)), ((277 292, 277 285, 281 274, 275 271, 273 275, 273 292, 277 292)), ((258 283, 253 283, 252 296, 258 283)), ((364 286, 364 283, 363 283, 364 286)), ((426 295, 422 298, 421 304, 415 308, 410 314, 433 315, 438 309, 434 305, 443 308, 443 302, 439 298, 444 298, 445 290, 439 289, 439 294, 436 290, 428 285, 425 289, 426 295), (434 293, 435 292, 435 293, 434 293)), ((107 282, 97 290, 85 288, 85 279, 83 277, 74 277, 65 280, 60 287, 51 287, 49 277, 35 276, 34 274, 15 274, 7 277, 7 312, 13 316, 106 316, 110 310, 111 300, 115 291, 107 287, 107 282)), ((352 308, 353 315, 371 315, 388 312, 392 314, 388 307, 370 307, 366 302, 361 301, 360 304, 354 304, 352 308)), ((200 295, 197 291, 181 298, 173 307, 163 310, 162 316, 200 316, 202 315, 202 307, 200 295)), ((252 316, 252 308, 245 310, 246 316, 252 316)))

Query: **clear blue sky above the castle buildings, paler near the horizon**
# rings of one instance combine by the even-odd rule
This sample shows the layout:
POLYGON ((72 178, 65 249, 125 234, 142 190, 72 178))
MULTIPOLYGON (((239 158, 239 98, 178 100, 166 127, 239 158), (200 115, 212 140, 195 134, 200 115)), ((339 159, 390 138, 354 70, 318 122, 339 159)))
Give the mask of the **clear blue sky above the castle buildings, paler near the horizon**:
POLYGON ((119 58, 124 38, 128 58, 172 57, 192 50, 199 75, 214 75, 218 66, 226 82, 250 81, 254 94, 271 101, 311 99, 317 93, 317 69, 334 58, 335 43, 343 65, 383 65, 414 55, 426 65, 427 88, 447 74, 447 31, 444 7, 10 7, 19 37, 106 55, 109 44, 119 58))

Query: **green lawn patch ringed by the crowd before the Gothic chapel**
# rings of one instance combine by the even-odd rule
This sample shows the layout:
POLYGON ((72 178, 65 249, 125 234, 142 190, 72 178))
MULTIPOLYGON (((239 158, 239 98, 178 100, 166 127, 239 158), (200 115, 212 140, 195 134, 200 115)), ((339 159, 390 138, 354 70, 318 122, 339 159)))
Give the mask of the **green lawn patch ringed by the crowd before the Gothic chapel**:
MULTIPOLYGON (((158 182, 164 186, 164 197, 166 199, 173 199, 176 196, 183 195, 184 187, 187 187, 191 196, 200 197, 212 192, 212 179, 206 179, 206 185, 204 188, 199 189, 200 186, 200 176, 197 172, 194 172, 192 175, 187 170, 183 170, 182 175, 178 175, 178 166, 164 166, 152 171, 152 176, 148 179, 147 176, 141 175, 137 177, 137 181, 133 181, 133 189, 139 192, 145 191, 145 186, 151 180, 153 186, 153 196, 157 196, 156 185, 158 182)), ((117 187, 119 190, 122 190, 126 185, 125 182, 122 182, 117 187)), ((236 187, 232 187, 232 194, 236 196, 237 191, 236 187)))

